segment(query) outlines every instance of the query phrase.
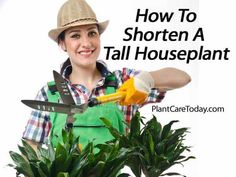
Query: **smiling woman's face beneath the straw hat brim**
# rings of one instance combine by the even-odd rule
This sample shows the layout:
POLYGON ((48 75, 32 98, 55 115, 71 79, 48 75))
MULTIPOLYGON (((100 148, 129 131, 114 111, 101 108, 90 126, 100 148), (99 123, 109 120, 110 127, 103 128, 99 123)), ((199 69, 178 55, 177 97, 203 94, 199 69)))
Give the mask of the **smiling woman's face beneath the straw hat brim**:
POLYGON ((96 65, 100 53, 100 35, 97 25, 83 25, 69 28, 65 38, 59 42, 67 51, 70 61, 78 67, 96 65))

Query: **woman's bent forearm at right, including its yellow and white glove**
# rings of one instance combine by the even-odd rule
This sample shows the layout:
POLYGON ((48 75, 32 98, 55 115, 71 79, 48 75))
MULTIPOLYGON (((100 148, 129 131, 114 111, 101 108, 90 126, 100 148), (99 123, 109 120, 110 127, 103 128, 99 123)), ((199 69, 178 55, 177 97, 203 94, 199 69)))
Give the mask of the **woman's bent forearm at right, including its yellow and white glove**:
POLYGON ((164 68, 152 72, 140 71, 139 74, 126 80, 118 89, 126 93, 120 104, 143 104, 152 88, 165 92, 183 87, 190 81, 191 78, 186 72, 175 68, 164 68))

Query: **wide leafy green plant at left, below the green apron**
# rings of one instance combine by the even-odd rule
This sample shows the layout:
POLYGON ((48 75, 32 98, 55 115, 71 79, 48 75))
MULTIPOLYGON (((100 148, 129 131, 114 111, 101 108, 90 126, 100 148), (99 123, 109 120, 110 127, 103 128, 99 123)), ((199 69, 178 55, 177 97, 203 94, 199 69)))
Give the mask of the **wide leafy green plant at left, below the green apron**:
MULTIPOLYGON (((118 148, 118 142, 94 146, 89 143, 83 150, 78 146, 79 137, 72 131, 62 131, 63 143, 54 149, 38 147, 37 152, 25 141, 19 146, 21 154, 10 151, 15 165, 9 164, 17 175, 27 177, 114 177, 124 167, 132 149, 118 148), (94 148, 99 152, 94 153, 94 148)), ((125 177, 127 174, 120 174, 125 177)))

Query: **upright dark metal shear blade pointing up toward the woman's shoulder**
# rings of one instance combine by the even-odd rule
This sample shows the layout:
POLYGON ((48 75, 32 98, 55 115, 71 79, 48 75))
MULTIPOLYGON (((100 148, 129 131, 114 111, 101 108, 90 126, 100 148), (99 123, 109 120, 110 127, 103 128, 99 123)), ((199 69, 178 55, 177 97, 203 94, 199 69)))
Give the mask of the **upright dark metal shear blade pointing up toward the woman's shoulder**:
POLYGON ((75 105, 75 101, 70 93, 70 89, 65 79, 56 71, 53 71, 53 76, 54 76, 57 90, 61 96, 63 103, 75 105))

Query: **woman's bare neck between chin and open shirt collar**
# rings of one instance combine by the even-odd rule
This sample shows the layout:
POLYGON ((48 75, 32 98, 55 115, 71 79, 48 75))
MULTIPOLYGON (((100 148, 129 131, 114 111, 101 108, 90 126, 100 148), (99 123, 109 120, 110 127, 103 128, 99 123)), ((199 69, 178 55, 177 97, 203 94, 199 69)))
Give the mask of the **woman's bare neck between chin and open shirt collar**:
POLYGON ((96 64, 90 67, 72 66, 72 72, 69 79, 72 84, 84 85, 91 92, 95 88, 97 82, 102 78, 96 64))

